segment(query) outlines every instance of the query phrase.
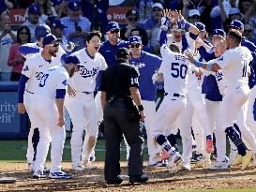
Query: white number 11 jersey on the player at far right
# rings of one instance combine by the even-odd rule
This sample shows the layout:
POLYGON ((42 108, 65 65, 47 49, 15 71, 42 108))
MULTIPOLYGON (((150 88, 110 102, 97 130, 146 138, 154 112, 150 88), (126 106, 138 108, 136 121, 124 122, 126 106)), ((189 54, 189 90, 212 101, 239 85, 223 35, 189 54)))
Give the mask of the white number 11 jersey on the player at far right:
POLYGON ((224 52, 215 63, 223 69, 223 85, 237 88, 248 84, 249 62, 252 55, 246 47, 236 47, 224 52))

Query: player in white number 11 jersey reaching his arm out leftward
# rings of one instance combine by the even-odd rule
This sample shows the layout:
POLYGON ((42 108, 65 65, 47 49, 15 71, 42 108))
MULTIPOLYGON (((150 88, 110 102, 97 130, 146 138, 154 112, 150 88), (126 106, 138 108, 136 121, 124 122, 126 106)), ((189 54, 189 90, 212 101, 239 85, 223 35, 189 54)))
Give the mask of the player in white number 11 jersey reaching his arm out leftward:
MULTIPOLYGON (((236 123, 237 112, 248 100, 248 63, 252 59, 247 48, 241 47, 241 33, 230 31, 227 36, 228 51, 218 58, 213 64, 195 62, 193 56, 187 53, 188 60, 195 66, 203 67, 206 70, 218 71, 223 69, 224 96, 221 102, 222 122, 220 131, 225 131, 233 144, 237 147, 238 154, 242 155, 242 168, 245 170, 251 159, 252 153, 241 138, 236 123)), ((224 142, 225 143, 225 142, 224 142)), ((222 146, 223 147, 223 146, 222 146)), ((225 147, 224 147, 225 149, 225 147)))

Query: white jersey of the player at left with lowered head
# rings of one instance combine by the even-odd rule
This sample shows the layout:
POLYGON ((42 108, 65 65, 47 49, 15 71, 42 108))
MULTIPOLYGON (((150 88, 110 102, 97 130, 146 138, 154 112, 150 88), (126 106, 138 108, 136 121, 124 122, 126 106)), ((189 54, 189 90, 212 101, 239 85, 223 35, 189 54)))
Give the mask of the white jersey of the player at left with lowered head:
POLYGON ((52 66, 43 71, 35 96, 40 100, 55 102, 57 89, 68 89, 68 71, 64 66, 52 66))

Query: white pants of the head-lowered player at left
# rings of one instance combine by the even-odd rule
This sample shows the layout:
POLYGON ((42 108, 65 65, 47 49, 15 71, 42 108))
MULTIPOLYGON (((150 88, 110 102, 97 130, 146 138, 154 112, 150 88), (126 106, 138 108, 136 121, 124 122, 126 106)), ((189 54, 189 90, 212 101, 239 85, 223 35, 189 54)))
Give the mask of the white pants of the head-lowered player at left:
POLYGON ((66 132, 64 126, 57 126, 57 107, 53 101, 41 99, 30 100, 30 104, 30 111, 33 116, 32 123, 38 127, 40 133, 34 170, 43 171, 51 142, 51 172, 60 171, 66 132))

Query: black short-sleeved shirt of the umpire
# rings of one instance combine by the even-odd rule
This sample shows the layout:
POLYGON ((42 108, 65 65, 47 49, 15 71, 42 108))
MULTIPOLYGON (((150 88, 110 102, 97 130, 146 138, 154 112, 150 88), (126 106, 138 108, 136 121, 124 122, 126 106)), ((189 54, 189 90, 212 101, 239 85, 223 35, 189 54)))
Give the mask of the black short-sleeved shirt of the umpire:
POLYGON ((129 87, 139 87, 139 72, 134 66, 119 63, 108 67, 102 75, 99 90, 106 92, 106 98, 130 96, 129 87))

